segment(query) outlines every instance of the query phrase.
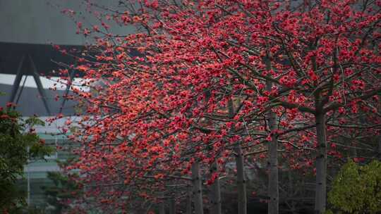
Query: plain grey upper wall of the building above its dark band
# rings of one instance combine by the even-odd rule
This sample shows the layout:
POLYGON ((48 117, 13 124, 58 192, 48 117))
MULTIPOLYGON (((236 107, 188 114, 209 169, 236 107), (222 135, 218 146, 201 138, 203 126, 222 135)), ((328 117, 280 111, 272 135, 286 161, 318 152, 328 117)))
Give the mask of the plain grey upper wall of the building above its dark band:
MULTIPOLYGON (((119 0, 91 1, 99 6, 124 11, 119 7, 119 0)), ((87 39, 75 34, 74 20, 81 21, 84 27, 99 25, 95 16, 86 11, 87 7, 85 0, 0 0, 0 42, 83 45, 87 39), (61 13, 67 8, 76 12, 75 18, 61 13)), ((114 21, 105 22, 111 25, 113 33, 131 32, 114 21)))

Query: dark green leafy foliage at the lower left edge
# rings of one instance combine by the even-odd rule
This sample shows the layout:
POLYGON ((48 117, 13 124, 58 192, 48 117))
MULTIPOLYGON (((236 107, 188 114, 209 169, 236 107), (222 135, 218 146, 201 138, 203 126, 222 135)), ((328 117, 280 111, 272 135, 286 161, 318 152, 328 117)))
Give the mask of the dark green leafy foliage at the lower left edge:
POLYGON ((35 125, 44 122, 35 117, 23 120, 11 104, 0 107, 0 210, 4 212, 15 213, 25 205, 25 192, 16 185, 24 165, 52 152, 35 133, 35 125))

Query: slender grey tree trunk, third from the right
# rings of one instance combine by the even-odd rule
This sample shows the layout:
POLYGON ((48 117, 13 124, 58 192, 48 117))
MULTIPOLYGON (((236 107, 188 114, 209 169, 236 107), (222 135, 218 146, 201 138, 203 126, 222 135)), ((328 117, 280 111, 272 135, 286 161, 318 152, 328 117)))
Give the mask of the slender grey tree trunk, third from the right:
POLYGON ((237 192, 238 192, 238 214, 247 213, 246 180, 243 166, 243 152, 241 145, 236 146, 236 168, 237 168, 237 192))

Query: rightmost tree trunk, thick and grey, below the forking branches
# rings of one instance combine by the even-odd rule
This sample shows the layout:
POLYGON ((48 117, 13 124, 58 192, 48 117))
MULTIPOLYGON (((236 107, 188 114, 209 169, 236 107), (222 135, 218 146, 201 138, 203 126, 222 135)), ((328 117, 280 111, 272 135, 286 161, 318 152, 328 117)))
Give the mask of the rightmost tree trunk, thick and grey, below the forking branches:
POLYGON ((327 197, 327 137, 325 114, 317 111, 315 115, 317 135, 315 213, 325 213, 327 197))

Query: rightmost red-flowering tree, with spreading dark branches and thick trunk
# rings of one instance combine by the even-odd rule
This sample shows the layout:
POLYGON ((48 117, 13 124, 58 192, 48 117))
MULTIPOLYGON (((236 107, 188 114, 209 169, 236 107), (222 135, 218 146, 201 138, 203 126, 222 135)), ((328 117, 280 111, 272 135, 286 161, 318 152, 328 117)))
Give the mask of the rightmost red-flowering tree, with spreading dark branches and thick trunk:
POLYGON ((272 46, 279 48, 274 49, 274 53, 279 51, 277 59, 284 56, 289 61, 289 65, 278 63, 279 69, 274 70, 279 87, 270 99, 315 116, 315 211, 323 213, 327 116, 343 108, 352 108, 356 114, 358 103, 372 103, 371 98, 380 93, 380 56, 375 43, 380 14, 373 11, 377 5, 358 9, 358 4, 349 1, 309 4, 308 12, 277 13, 269 23, 275 32, 270 37, 272 46))

